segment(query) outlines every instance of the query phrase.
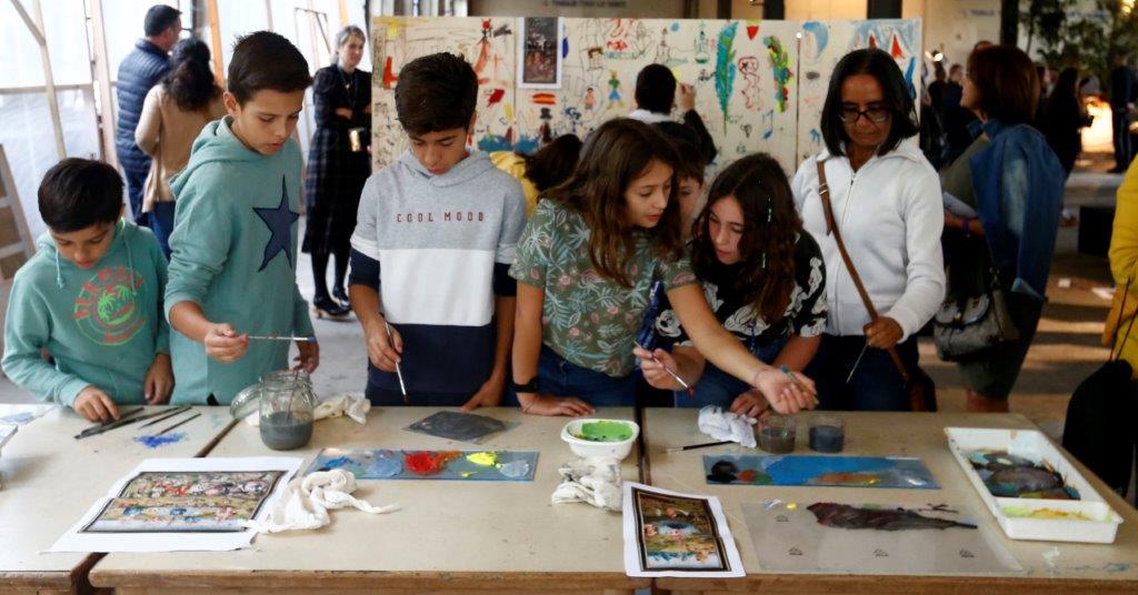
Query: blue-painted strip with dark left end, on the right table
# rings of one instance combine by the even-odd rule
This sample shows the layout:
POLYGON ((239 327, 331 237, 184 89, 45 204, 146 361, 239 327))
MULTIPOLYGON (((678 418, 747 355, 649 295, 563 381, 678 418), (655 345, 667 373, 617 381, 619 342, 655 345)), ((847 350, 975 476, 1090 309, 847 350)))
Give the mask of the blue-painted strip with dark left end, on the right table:
POLYGON ((704 455, 708 484, 938 489, 916 457, 704 455))

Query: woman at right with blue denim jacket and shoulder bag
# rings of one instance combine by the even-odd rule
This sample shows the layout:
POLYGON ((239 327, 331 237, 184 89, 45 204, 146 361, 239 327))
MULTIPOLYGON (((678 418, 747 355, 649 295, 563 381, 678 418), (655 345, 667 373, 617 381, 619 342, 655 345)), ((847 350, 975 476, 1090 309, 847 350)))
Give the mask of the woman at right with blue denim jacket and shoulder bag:
POLYGON ((1066 175, 1031 126, 1039 105, 1031 59, 992 46, 967 64, 960 105, 983 132, 943 180, 975 216, 945 214, 950 291, 934 336, 941 357, 957 362, 967 410, 1006 412, 1039 324, 1066 175))

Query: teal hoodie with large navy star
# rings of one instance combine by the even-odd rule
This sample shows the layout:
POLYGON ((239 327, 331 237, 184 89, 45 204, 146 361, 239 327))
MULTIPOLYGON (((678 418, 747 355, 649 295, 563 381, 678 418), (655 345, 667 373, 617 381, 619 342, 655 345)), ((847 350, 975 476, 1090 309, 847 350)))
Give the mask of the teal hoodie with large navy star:
MULTIPOLYGON (((296 287, 300 148, 289 139, 264 156, 238 140, 231 118, 211 122, 193 141, 190 163, 171 182, 176 197, 170 235, 166 316, 181 301, 240 333, 313 334, 308 304, 296 287)), ((250 341, 241 360, 222 363, 178 330, 172 403, 229 404, 262 374, 288 367, 286 341, 250 341)))

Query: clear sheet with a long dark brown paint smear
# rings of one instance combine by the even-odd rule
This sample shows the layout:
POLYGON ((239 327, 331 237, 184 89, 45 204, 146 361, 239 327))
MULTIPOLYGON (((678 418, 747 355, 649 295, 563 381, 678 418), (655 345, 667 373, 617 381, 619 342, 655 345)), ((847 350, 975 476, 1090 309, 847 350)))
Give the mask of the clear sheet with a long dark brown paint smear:
MULTIPOLYGON (((775 501, 778 502, 778 501, 775 501)), ((766 572, 978 575, 1017 572, 992 527, 954 503, 742 504, 766 572)))

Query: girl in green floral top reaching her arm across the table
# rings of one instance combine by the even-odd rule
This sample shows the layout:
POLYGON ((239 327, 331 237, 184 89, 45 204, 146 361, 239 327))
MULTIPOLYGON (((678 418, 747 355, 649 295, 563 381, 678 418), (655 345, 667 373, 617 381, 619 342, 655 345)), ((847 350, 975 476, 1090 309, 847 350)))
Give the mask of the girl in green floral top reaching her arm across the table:
POLYGON ((809 379, 757 360, 708 307, 683 255, 676 163, 651 126, 609 121, 589 137, 574 175, 538 203, 510 268, 520 281, 513 382, 523 411, 584 415, 633 405, 634 339, 654 281, 717 366, 749 380, 778 411, 813 406, 809 379))

